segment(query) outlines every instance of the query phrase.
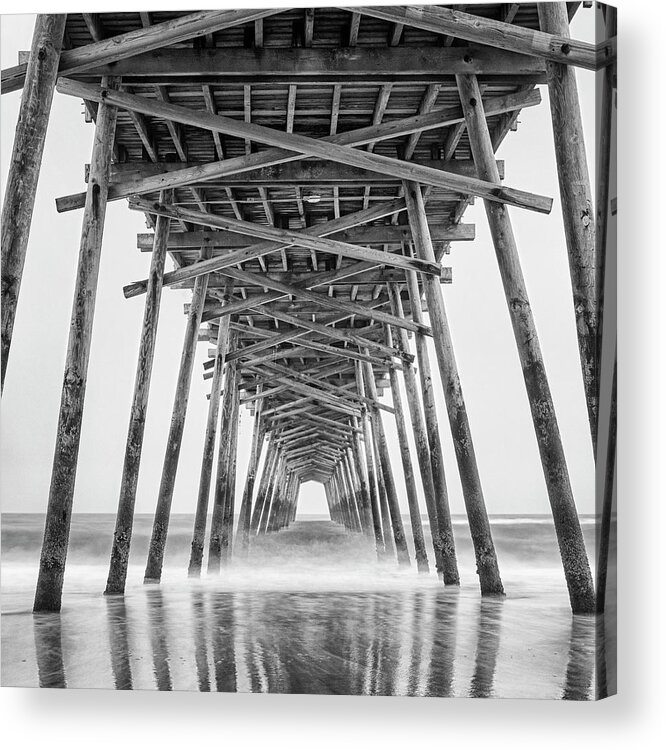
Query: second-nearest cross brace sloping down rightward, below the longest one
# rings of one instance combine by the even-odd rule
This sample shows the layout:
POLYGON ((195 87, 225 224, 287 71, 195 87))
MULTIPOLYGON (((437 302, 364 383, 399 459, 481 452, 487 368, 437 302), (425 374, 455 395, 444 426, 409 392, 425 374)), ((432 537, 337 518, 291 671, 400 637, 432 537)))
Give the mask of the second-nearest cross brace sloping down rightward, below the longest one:
POLYGON ((370 247, 337 242, 328 237, 311 237, 305 232, 297 232, 291 229, 278 229, 277 227, 270 227, 265 224, 254 224, 249 221, 241 221, 226 216, 208 214, 204 211, 163 206, 160 203, 149 203, 148 201, 140 199, 130 201, 129 207, 134 210, 146 211, 158 216, 169 216, 174 219, 189 221, 193 224, 202 224, 204 226, 216 227, 217 229, 225 229, 230 232, 237 232, 238 234, 245 234, 251 237, 259 237, 273 242, 280 242, 284 245, 299 245, 323 253, 354 258, 355 260, 371 261, 379 265, 392 266, 394 268, 418 270, 421 273, 429 273, 435 276, 441 276, 442 273, 442 267, 437 261, 434 261, 433 263, 422 263, 418 259, 405 258, 404 256, 395 253, 386 253, 382 250, 374 250, 370 247))

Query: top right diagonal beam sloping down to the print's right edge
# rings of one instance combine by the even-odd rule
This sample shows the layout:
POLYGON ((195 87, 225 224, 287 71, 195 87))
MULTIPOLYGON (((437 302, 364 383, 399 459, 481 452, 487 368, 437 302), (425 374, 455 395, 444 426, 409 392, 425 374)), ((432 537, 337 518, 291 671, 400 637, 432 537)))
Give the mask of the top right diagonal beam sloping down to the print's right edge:
MULTIPOLYGON (((436 5, 357 6, 347 10, 587 70, 597 70, 608 65, 615 55, 614 44, 611 43, 597 48, 594 44, 570 39, 568 36, 534 31, 436 5)), ((467 71, 467 74, 472 73, 473 71, 467 71)))

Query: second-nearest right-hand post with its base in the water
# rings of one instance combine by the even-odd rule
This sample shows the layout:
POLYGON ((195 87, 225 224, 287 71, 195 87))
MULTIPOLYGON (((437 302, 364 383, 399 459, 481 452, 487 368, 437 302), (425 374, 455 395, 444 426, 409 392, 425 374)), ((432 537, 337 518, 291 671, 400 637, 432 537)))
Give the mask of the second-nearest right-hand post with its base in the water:
MULTIPOLYGON (((404 192, 416 255, 420 258, 434 258, 435 253, 430 240, 421 189, 413 182, 405 182, 404 192)), ((423 275, 422 281, 428 302, 433 342, 437 353, 446 410, 460 472, 465 509, 467 510, 470 533, 474 544, 481 593, 483 595, 503 594, 504 588, 497 566, 497 556, 490 531, 486 504, 483 499, 474 443, 467 420, 467 409, 460 385, 442 290, 439 284, 430 284, 423 275)))

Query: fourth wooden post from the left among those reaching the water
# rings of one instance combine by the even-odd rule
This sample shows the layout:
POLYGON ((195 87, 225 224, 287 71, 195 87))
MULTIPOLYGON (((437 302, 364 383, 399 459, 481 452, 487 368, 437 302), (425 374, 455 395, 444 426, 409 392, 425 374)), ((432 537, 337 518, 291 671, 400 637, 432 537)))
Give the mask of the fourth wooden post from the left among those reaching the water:
MULTIPOLYGON (((228 280, 225 284, 224 299, 227 302, 231 299, 233 286, 233 280, 228 280)), ((230 318, 228 315, 220 318, 220 325, 217 331, 215 365, 213 367, 213 379, 210 387, 208 418, 206 420, 204 450, 201 459, 201 474, 199 476, 199 495, 197 497, 197 509, 194 514, 194 532, 192 535, 192 549, 190 551, 190 562, 188 566, 188 575, 194 578, 198 578, 201 575, 201 564, 203 562, 204 542, 206 537, 206 518, 208 516, 208 497, 210 495, 210 480, 213 473, 217 417, 220 408, 222 371, 224 369, 224 358, 227 356, 229 348, 229 320, 230 318)), ((221 439, 224 440, 225 436, 222 435, 221 439)))

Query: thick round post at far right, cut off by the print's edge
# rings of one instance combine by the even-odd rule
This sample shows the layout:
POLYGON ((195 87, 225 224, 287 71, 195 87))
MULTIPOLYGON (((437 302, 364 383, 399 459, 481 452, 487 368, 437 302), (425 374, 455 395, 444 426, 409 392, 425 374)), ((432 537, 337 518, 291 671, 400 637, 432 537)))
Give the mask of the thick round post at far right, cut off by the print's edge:
MULTIPOLYGON (((567 4, 537 3, 541 31, 569 37, 567 4)), ((585 153, 576 69, 546 60, 546 76, 564 234, 569 256, 578 348, 583 371, 592 445, 596 455, 599 412, 599 259, 595 247, 595 213, 585 153)))

